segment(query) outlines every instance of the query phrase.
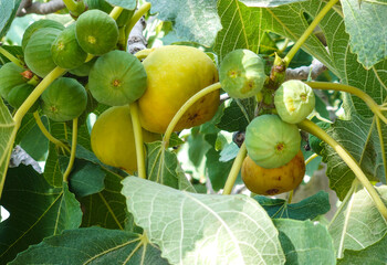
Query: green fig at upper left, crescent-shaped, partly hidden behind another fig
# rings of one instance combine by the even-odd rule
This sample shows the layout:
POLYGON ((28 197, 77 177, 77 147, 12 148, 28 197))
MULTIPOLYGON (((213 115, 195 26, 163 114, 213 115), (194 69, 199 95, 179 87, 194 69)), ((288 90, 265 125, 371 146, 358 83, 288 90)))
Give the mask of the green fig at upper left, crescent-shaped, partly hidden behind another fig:
POLYGON ((55 41, 61 30, 43 28, 32 34, 24 50, 27 66, 40 77, 44 77, 56 64, 51 56, 51 45, 55 41))

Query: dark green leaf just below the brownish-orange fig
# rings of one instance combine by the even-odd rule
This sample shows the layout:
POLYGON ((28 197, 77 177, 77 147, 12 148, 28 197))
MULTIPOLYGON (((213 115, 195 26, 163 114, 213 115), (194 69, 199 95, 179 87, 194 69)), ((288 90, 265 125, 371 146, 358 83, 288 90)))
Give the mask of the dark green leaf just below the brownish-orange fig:
POLYGON ((282 199, 255 195, 257 200, 272 219, 307 220, 326 213, 331 209, 328 194, 320 191, 297 203, 287 203, 282 199))

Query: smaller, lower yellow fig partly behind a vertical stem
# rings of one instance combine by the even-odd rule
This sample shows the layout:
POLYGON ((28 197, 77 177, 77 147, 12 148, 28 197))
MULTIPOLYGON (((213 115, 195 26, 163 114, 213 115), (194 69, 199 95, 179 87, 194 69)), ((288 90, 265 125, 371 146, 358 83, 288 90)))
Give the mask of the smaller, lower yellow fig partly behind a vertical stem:
MULTIPOLYGON (((160 135, 143 129, 145 142, 160 139, 160 135)), ((103 163, 121 168, 128 173, 137 170, 135 138, 128 105, 105 110, 93 126, 91 142, 93 152, 103 163)))

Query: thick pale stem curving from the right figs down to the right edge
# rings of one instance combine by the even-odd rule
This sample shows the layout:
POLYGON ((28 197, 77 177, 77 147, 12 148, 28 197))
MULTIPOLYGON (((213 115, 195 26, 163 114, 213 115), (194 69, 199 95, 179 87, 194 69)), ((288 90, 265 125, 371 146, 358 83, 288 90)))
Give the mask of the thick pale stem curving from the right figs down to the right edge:
POLYGON ((344 162, 349 167, 349 169, 355 173, 356 178, 359 180, 359 182, 363 184, 363 187, 367 190, 368 194, 373 199, 376 208, 378 209, 379 213, 384 216, 384 219, 387 221, 387 208, 381 201, 379 194, 375 190, 374 186, 369 182, 356 160, 352 157, 352 155, 345 150, 344 147, 342 147, 335 139, 333 139, 328 134, 325 132, 322 128, 320 128, 317 125, 315 125, 313 121, 308 119, 304 119, 300 124, 297 124, 300 129, 303 129, 316 137, 318 137, 321 140, 325 141, 327 145, 330 145, 337 155, 344 160, 344 162))

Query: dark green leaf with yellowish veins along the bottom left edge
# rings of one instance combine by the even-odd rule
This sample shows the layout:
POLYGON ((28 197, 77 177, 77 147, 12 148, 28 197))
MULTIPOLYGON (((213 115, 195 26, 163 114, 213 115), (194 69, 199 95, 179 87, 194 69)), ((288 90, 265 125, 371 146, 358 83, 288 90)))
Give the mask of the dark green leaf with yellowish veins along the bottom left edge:
POLYGON ((24 264, 157 264, 160 251, 143 236, 101 227, 65 231, 21 253, 10 265, 24 264))

